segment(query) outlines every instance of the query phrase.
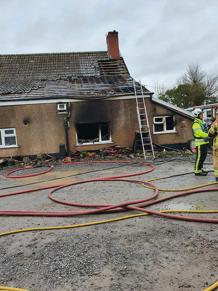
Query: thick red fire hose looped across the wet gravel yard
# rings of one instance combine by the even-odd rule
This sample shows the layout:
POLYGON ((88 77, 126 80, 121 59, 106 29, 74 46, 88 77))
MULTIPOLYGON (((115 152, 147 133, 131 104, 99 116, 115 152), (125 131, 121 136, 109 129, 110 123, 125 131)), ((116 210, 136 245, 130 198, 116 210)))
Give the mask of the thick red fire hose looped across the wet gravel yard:
MULTIPOLYGON (((101 161, 103 162, 103 161, 101 161)), ((101 162, 74 162, 74 163, 68 163, 68 164, 80 164, 80 163, 101 163, 101 162)), ((115 162, 115 161, 106 161, 106 162, 115 162)), ((128 162, 128 161, 120 161, 121 162, 128 162)), ((147 163, 144 162, 140 162, 140 164, 144 164, 147 165, 147 163)), ((156 204, 158 202, 161 201, 165 201, 167 199, 172 199, 174 197, 178 197, 178 196, 182 196, 182 195, 187 195, 187 194, 193 194, 193 193, 199 193, 199 192, 210 192, 210 191, 217 191, 217 188, 210 188, 210 189, 200 189, 200 190, 192 190, 192 191, 188 191, 188 192, 182 192, 182 193, 177 193, 174 195, 170 195, 161 199, 157 199, 154 201, 150 201, 154 198, 157 197, 158 194, 158 189, 154 184, 151 184, 150 182, 146 182, 146 181, 142 181, 142 180, 133 180, 133 179, 120 179, 121 177, 129 177, 129 176, 137 176, 137 175, 142 175, 145 174, 147 172, 151 172, 154 170, 154 166, 152 165, 147 165, 150 166, 151 169, 144 171, 144 172, 140 172, 140 173, 135 173, 135 174, 129 174, 129 175, 123 175, 123 176, 114 176, 114 177, 106 177, 106 178, 97 178, 97 179, 89 179, 89 180, 82 180, 82 181, 77 181, 77 182, 73 182, 73 183, 68 183, 68 184, 61 184, 61 185, 55 185, 55 186, 47 186, 47 187, 41 187, 41 188, 36 188, 36 189, 30 189, 30 190, 24 190, 24 191, 19 191, 19 192, 12 192, 12 193, 7 193, 7 194, 1 194, 0 197, 4 197, 4 196, 10 196, 10 195, 15 195, 15 194, 21 194, 21 193, 28 193, 28 192, 33 192, 33 191, 39 191, 42 189, 49 189, 49 188, 54 188, 53 190, 48 192, 48 197, 58 203, 62 203, 62 204, 67 204, 67 205, 71 205, 71 206, 81 206, 81 207, 101 207, 98 209, 94 209, 94 210, 86 210, 86 211, 77 211, 77 212, 57 212, 57 211, 23 211, 23 210, 1 210, 0 211, 0 215, 10 215, 10 216, 77 216, 77 215, 84 215, 84 214, 95 214, 95 213, 108 213, 108 212, 120 212, 120 211, 127 211, 127 210, 137 210, 140 212, 146 212, 146 213, 150 213, 150 214, 154 214, 154 215, 158 215, 158 216, 163 216, 163 217, 167 217, 167 218, 173 218, 173 219, 181 219, 181 220, 188 220, 188 221, 196 221, 196 222, 212 222, 212 223, 218 223, 218 219, 205 219, 205 218, 193 218, 193 217, 184 217, 184 216, 176 216, 176 215, 172 215, 172 214, 167 214, 167 213, 160 213, 157 211, 152 211, 152 210, 148 210, 148 209, 143 209, 145 206, 149 206, 151 204, 156 204), (51 193, 67 187, 67 186, 71 186, 71 185, 76 185, 76 184, 81 184, 81 183, 87 183, 87 182, 95 182, 95 181, 126 181, 126 182, 137 182, 137 183, 145 183, 148 184, 150 186, 153 186, 155 189, 155 193, 153 196, 146 198, 146 199, 142 199, 142 200, 137 200, 137 201, 131 201, 131 202, 124 202, 124 203, 120 203, 120 204, 83 204, 83 203, 72 203, 72 202, 66 202, 66 201, 61 201, 59 199, 56 199, 54 197, 51 196, 51 193), (147 202, 150 201, 150 202, 147 202), (147 202, 147 203, 144 203, 147 202), (132 206, 133 204, 139 204, 139 203, 143 203, 140 204, 138 206, 132 206)), ((33 167, 27 167, 27 168, 33 168, 33 167)), ((21 169, 27 169, 27 168, 21 168, 21 169)), ((6 177, 8 177, 8 175, 12 172, 21 170, 21 169, 16 169, 14 171, 8 172, 6 174, 6 177)), ((49 169, 51 170, 52 167, 49 169)), ((45 172, 48 172, 45 171, 45 172)), ((44 173, 44 172, 41 172, 44 173)), ((32 175, 26 175, 26 176, 34 176, 34 175, 39 175, 41 173, 38 174, 32 174, 32 175)), ((10 176, 12 177, 12 176, 10 176)), ((15 178, 15 176, 13 176, 15 178)), ((16 178, 21 178, 21 177, 25 177, 25 176, 16 176, 16 178)))

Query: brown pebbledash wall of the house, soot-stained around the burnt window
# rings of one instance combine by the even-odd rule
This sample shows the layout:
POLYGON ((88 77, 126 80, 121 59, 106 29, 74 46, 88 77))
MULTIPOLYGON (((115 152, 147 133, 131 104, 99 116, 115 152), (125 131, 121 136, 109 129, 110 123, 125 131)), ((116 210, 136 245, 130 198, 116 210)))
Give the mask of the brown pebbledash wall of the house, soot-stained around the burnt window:
MULTIPOLYGON (((145 98, 152 141, 157 144, 188 142, 192 139, 192 120, 145 98), (175 115, 174 133, 153 134, 153 117, 175 115)), ((59 152, 65 144, 64 117, 57 113, 57 103, 1 106, 0 128, 15 128, 18 147, 0 148, 0 157, 59 152), (25 125, 26 124, 26 125, 25 125)), ((98 150, 111 145, 132 147, 139 129, 135 99, 71 102, 68 119, 69 145, 74 150, 98 150), (75 123, 111 122, 112 143, 76 146, 75 123)))

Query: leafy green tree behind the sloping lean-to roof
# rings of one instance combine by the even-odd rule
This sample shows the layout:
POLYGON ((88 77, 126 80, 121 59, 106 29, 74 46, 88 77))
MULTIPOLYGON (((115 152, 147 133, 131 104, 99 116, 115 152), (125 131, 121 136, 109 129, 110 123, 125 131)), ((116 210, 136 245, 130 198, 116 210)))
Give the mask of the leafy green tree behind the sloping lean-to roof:
POLYGON ((186 109, 193 106, 203 105, 205 88, 202 84, 182 84, 167 90, 159 97, 161 100, 186 109))

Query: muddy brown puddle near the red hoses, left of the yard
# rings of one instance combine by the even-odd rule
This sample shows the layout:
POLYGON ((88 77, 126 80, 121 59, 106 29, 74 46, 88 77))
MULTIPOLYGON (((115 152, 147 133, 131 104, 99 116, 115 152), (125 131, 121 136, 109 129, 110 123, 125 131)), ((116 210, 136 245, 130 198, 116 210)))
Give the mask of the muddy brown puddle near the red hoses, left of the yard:
MULTIPOLYGON (((52 180, 52 181, 46 181, 50 179, 55 179, 55 178, 61 178, 65 176, 70 176, 70 175, 75 175, 79 173, 83 173, 88 171, 89 169, 77 169, 77 170, 60 170, 60 171, 53 171, 51 172, 38 175, 38 176, 33 176, 33 177, 27 177, 27 178, 21 178, 19 181, 21 182, 21 185, 28 184, 28 183, 35 183, 35 182, 41 182, 36 184, 37 187, 44 187, 44 186, 52 186, 52 185, 58 185, 58 184, 64 184, 64 183, 72 183, 76 181, 80 181, 81 177, 80 176, 73 176, 73 177, 67 177, 63 179, 58 179, 58 180, 52 180), (45 181, 45 182, 43 182, 45 181)), ((33 187, 33 185, 29 185, 28 187, 33 187)))

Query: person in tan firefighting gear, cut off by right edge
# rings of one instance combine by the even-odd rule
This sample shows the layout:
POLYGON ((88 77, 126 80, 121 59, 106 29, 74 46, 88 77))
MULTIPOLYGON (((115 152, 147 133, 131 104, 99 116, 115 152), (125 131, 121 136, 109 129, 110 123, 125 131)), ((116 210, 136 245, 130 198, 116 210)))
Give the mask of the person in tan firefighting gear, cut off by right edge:
POLYGON ((218 182, 218 109, 216 110, 216 120, 211 124, 208 136, 213 138, 213 167, 216 182, 218 182))

